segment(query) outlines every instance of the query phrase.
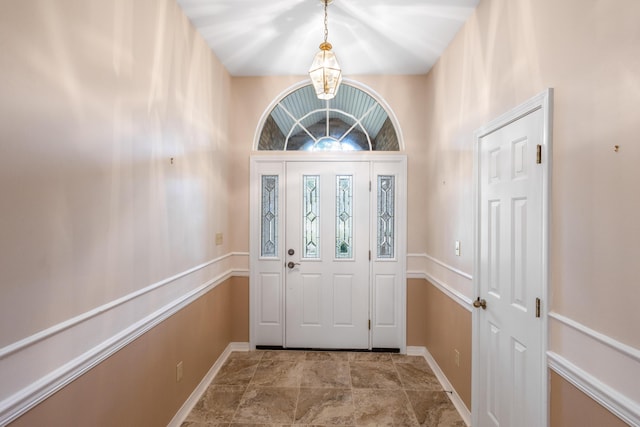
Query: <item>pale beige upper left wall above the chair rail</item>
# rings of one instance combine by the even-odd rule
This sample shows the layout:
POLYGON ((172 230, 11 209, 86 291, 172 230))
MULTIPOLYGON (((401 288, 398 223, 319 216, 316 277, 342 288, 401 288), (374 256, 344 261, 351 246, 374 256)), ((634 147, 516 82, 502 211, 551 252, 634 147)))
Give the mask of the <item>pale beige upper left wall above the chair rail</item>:
POLYGON ((230 78, 175 1, 2 2, 0 40, 0 348, 226 252, 230 78))

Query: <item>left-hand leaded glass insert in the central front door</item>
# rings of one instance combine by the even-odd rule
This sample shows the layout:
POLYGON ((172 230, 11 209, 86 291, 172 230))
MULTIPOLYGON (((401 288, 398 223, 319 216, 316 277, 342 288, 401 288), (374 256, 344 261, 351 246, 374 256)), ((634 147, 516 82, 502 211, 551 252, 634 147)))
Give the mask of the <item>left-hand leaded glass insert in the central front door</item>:
POLYGON ((303 258, 320 258, 319 175, 303 176, 303 258))

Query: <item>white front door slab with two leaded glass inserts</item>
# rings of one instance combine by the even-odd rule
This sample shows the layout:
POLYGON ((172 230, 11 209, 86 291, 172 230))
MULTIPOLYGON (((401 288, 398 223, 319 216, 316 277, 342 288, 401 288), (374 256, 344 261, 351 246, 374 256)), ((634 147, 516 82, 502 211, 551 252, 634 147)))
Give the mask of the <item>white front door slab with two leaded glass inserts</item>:
POLYGON ((369 162, 286 165, 285 346, 369 348, 369 162))

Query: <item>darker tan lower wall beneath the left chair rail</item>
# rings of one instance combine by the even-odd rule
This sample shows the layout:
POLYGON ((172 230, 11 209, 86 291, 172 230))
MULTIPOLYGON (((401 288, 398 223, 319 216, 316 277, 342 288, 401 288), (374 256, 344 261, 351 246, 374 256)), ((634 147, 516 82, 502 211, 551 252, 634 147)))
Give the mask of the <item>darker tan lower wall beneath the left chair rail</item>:
POLYGON ((231 278, 18 418, 18 426, 164 426, 230 342, 247 342, 247 278, 231 278), (184 377, 176 382, 176 364, 184 377))

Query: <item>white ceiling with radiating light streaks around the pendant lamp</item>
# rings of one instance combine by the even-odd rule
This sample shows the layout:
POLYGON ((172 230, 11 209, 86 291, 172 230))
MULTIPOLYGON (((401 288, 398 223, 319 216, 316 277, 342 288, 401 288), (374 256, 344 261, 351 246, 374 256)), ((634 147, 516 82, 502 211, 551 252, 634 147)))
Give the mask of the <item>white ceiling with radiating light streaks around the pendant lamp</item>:
MULTIPOLYGON (((307 73, 322 0, 177 0, 233 76, 307 73)), ((334 0, 329 42, 344 76, 425 74, 479 0, 334 0)))

